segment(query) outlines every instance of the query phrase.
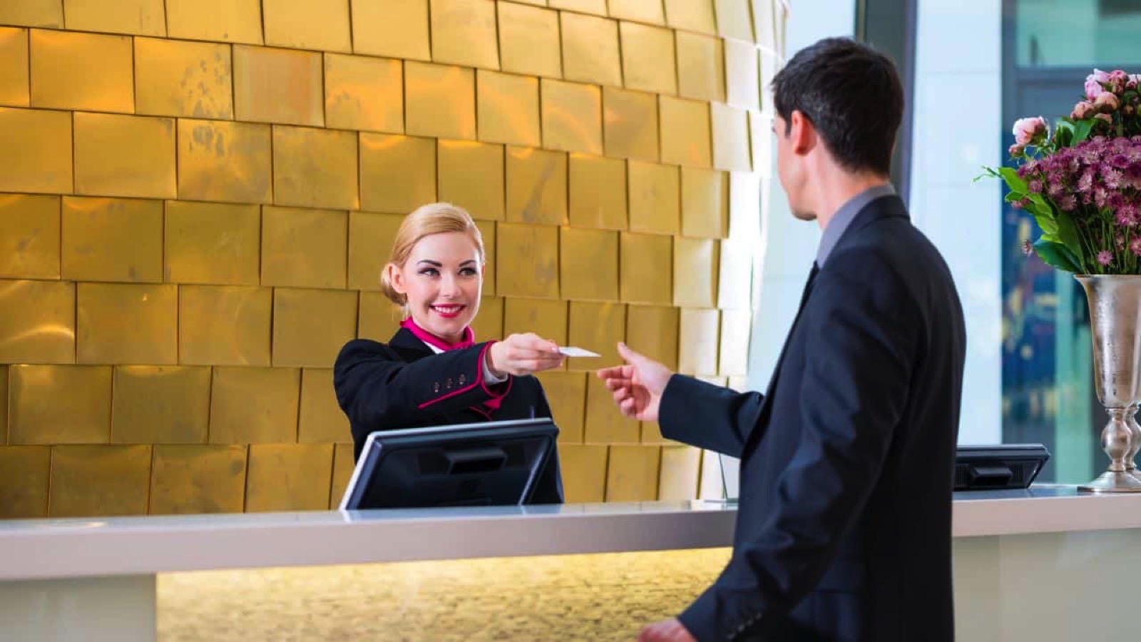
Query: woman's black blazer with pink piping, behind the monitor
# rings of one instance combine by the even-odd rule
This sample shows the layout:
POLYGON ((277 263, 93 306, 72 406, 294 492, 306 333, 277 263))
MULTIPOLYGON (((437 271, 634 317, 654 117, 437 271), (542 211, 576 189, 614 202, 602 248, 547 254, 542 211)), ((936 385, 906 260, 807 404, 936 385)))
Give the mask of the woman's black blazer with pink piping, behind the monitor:
MULTIPOLYGON (((333 364, 333 387, 349 418, 354 459, 361 457, 374 431, 550 417, 547 395, 535 377, 486 385, 482 364, 489 345, 436 354, 403 328, 388 345, 369 339, 345 344, 333 364), (497 409, 483 406, 496 396, 497 409)), ((533 501, 563 503, 557 451, 541 473, 533 501)))

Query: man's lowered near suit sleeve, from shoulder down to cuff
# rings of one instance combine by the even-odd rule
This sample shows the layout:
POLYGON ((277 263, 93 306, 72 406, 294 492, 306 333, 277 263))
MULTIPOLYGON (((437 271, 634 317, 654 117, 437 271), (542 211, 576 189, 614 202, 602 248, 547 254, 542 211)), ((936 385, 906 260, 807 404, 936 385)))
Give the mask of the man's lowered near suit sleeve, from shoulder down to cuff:
POLYGON ((742 489, 774 493, 778 508, 680 616, 698 640, 763 632, 769 616, 815 588, 863 512, 905 411, 923 329, 900 278, 868 252, 834 255, 811 299, 799 416, 769 418, 800 426, 796 451, 778 488, 742 489))

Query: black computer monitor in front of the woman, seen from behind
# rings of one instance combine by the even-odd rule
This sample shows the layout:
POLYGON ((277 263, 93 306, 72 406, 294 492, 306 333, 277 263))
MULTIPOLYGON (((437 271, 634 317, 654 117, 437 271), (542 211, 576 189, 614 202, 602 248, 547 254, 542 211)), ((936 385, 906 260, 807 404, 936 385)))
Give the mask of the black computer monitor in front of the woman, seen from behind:
POLYGON ((340 507, 531 504, 558 434, 550 418, 374 432, 340 507))

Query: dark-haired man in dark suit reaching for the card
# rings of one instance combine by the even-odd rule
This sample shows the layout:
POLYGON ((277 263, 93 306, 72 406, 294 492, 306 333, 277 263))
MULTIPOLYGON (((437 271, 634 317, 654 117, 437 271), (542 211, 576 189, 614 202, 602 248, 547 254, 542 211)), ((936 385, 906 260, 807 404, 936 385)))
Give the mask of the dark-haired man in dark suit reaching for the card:
POLYGON ((946 264, 888 183, 899 77, 828 39, 772 86, 780 183, 823 238, 764 395, 624 345, 628 364, 599 371, 625 415, 742 460, 731 560, 640 640, 949 642, 966 339, 946 264))

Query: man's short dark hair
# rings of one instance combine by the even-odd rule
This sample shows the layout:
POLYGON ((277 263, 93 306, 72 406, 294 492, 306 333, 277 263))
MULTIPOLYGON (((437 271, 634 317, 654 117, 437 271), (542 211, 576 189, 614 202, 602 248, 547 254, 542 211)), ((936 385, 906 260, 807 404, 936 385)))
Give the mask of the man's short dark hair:
POLYGON ((806 47, 772 79, 777 113, 812 123, 844 169, 891 171, 891 149, 904 115, 904 88, 890 58, 847 38, 806 47))

